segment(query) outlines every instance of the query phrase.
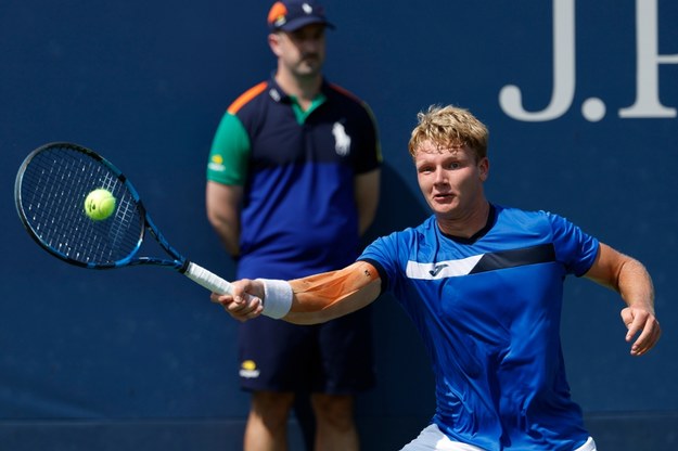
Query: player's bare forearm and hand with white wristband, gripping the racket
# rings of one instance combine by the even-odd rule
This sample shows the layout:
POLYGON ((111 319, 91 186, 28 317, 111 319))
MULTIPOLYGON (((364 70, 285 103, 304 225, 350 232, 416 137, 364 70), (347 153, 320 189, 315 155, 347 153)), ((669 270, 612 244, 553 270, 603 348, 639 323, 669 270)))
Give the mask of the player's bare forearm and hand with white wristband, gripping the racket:
POLYGON ((260 314, 295 324, 316 324, 343 317, 371 304, 381 292, 376 269, 357 261, 344 269, 290 282, 241 280, 233 282, 232 295, 213 294, 239 321, 260 314))

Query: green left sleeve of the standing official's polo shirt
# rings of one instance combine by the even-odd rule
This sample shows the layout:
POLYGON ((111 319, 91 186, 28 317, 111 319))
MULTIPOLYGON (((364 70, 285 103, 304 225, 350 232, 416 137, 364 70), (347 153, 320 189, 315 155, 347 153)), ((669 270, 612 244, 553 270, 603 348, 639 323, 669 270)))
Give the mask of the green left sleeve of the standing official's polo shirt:
POLYGON ((238 116, 226 113, 212 142, 207 180, 243 185, 247 178, 250 136, 238 116))

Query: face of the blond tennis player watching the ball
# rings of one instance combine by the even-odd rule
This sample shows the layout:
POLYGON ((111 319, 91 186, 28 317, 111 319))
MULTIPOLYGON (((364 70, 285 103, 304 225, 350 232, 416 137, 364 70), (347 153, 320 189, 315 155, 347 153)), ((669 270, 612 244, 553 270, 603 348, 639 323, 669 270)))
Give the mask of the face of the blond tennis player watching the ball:
POLYGON ((417 150, 414 166, 419 188, 439 219, 463 220, 485 205, 489 162, 476 162, 468 146, 438 150, 425 141, 417 150))

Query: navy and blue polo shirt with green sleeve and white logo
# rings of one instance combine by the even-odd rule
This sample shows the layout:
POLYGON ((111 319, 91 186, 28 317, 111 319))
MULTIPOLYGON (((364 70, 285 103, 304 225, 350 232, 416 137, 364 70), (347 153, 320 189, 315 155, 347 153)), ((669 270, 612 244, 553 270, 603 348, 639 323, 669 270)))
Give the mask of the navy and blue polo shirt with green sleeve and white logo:
POLYGON ((364 102, 323 80, 302 111, 273 78, 223 115, 207 179, 244 186, 238 278, 296 279, 351 263, 359 253, 354 182, 381 150, 364 102))

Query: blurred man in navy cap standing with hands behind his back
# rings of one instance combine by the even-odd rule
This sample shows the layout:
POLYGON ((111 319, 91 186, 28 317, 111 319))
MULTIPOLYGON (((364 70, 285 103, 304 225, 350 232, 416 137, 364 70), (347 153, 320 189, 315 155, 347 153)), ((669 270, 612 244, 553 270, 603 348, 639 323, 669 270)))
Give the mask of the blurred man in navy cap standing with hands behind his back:
MULTIPOLYGON (((325 30, 315 1, 276 2, 272 77, 221 119, 207 168, 207 216, 238 278, 291 279, 343 268, 379 202, 381 150, 368 105, 322 75, 325 30)), ((359 449, 355 394, 374 385, 371 312, 319 325, 260 318, 239 331, 252 392, 246 451, 284 450, 295 396, 310 392, 315 449, 359 449)))

